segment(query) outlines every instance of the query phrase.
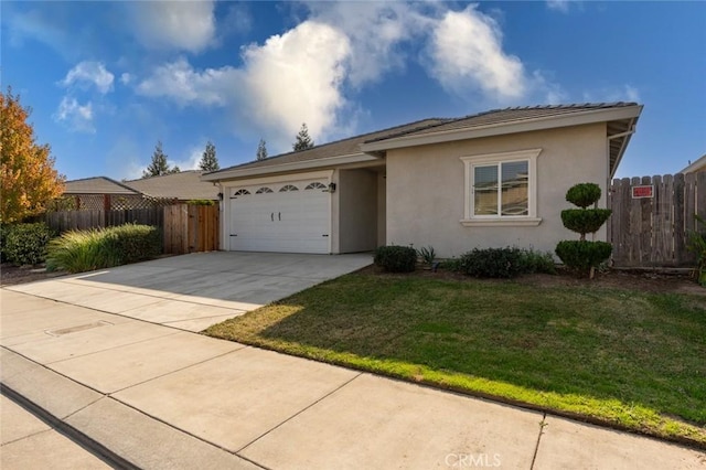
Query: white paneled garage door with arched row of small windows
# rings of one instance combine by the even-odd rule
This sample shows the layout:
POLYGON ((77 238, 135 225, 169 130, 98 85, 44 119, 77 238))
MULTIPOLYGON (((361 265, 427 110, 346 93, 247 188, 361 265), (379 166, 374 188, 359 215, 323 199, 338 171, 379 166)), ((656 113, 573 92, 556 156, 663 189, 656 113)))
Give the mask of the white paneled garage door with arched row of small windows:
POLYGON ((330 253, 330 195, 306 180, 231 190, 231 250, 330 253))

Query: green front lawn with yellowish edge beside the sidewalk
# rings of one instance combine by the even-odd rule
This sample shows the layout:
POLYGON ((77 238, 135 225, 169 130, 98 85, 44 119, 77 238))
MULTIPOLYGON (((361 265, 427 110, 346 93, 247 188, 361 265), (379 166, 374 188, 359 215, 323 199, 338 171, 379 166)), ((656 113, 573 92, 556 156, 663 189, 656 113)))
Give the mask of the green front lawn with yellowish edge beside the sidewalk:
POLYGON ((206 334, 706 447, 706 298, 353 274, 206 334))

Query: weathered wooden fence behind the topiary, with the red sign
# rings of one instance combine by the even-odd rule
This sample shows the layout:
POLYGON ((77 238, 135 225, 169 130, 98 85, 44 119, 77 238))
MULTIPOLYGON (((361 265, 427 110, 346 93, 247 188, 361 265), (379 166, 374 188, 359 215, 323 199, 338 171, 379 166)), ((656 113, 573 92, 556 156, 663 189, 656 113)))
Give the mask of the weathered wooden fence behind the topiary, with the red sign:
MULTIPOLYGON (((645 195, 650 192, 646 189, 645 195)), ((634 194, 639 195, 639 194, 634 194)), ((693 267, 688 235, 706 216, 706 172, 613 180, 608 207, 608 241, 616 267, 693 267), (652 195, 633 197, 634 186, 652 186, 652 195)))

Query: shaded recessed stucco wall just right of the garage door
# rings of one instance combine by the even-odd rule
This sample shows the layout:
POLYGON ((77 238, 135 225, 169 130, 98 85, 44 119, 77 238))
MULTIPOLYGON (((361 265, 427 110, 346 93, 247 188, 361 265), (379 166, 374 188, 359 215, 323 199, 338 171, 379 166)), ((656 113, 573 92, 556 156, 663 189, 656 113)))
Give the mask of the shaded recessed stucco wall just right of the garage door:
POLYGON ((372 250, 377 245, 377 173, 339 172, 339 253, 372 250))

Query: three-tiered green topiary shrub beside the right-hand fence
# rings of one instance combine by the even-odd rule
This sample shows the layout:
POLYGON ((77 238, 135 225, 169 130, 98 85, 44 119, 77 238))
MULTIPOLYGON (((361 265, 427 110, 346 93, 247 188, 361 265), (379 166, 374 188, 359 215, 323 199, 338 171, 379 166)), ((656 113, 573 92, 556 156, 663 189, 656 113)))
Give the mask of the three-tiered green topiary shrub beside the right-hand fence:
POLYGON ((563 241, 556 246, 556 256, 571 269, 588 273, 593 278, 598 265, 610 258, 612 245, 606 242, 587 242, 586 234, 596 233, 610 217, 609 209, 598 209, 600 186, 581 183, 566 192, 566 200, 581 209, 561 211, 561 222, 571 232, 580 234, 578 242, 563 241), (586 209, 593 204, 593 209, 586 209))

